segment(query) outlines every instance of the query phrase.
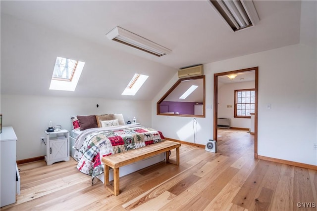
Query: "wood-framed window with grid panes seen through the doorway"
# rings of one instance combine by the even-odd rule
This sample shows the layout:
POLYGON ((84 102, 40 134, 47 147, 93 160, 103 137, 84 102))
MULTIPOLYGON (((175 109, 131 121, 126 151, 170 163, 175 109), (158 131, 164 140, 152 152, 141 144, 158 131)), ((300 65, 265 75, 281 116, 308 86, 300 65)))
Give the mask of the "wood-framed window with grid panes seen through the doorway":
POLYGON ((250 113, 255 112, 255 89, 234 90, 234 117, 251 118, 250 113))

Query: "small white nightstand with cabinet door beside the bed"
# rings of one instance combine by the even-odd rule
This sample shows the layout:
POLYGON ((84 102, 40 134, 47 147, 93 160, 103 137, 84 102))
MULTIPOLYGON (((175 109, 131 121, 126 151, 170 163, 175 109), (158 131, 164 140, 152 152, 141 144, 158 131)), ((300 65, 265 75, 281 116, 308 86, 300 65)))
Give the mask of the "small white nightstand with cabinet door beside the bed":
POLYGON ((46 134, 46 155, 47 165, 59 161, 69 161, 69 131, 62 129, 58 132, 47 132, 46 134))

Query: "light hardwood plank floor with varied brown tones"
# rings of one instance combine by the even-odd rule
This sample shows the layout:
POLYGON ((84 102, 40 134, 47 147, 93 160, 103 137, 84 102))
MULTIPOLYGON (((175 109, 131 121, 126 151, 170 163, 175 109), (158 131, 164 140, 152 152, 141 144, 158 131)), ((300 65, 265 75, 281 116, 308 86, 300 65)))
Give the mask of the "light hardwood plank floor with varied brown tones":
POLYGON ((217 153, 182 144, 180 166, 162 162, 121 177, 118 196, 99 180, 92 186, 73 159, 19 165, 21 195, 1 210, 317 210, 316 170, 254 159, 245 130, 218 135, 217 153))

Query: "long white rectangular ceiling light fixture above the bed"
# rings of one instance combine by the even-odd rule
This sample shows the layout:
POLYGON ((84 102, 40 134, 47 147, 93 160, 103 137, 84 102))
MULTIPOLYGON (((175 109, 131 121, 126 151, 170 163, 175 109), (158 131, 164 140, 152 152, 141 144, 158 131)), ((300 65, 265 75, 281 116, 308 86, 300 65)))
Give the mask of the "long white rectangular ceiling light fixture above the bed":
POLYGON ((170 49, 163 47, 155 42, 145 39, 137 34, 129 32, 119 26, 114 27, 106 34, 109 40, 121 42, 131 47, 143 50, 156 56, 163 56, 171 52, 170 49))

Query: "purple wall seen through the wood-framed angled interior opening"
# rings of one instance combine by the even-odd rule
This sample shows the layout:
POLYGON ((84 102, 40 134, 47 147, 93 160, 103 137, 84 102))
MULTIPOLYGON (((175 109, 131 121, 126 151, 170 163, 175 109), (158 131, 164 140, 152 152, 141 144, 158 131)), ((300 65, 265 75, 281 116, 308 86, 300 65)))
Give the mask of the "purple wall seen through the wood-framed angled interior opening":
POLYGON ((194 105, 196 102, 172 102, 163 101, 160 103, 160 112, 178 112, 179 114, 194 115, 194 105), (168 107, 168 110, 166 109, 168 107))

